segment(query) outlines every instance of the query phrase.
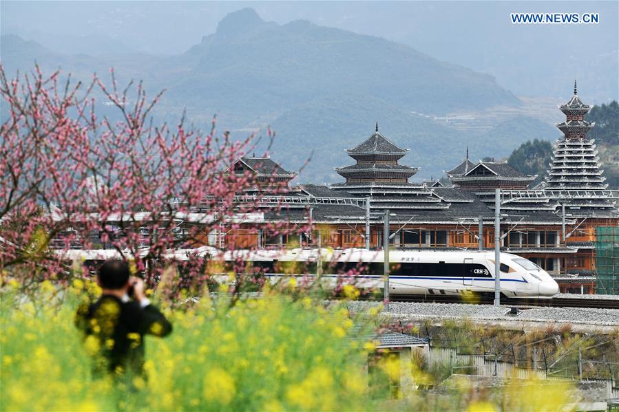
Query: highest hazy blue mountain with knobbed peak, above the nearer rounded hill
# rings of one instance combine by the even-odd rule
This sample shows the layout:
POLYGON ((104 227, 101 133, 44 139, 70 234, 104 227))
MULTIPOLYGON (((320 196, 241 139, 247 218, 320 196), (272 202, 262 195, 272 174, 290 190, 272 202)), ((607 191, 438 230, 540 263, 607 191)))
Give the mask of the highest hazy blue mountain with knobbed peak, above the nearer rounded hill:
POLYGON ((195 63, 170 94, 223 113, 279 112, 331 94, 368 94, 404 110, 446 113, 518 99, 492 76, 411 47, 309 21, 266 23, 251 9, 229 14, 184 56, 195 63))

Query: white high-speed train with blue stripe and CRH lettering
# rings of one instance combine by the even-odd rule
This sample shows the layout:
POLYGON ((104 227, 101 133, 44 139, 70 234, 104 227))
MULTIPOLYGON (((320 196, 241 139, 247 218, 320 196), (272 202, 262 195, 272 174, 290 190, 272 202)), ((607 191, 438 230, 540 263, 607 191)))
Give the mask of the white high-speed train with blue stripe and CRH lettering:
MULTIPOLYGON (((109 259, 109 251, 73 250, 81 259, 109 259), (98 253, 97 253, 98 252, 98 253), (103 252, 103 255, 101 255, 103 252), (98 257, 97 257, 98 256, 98 257)), ((384 289, 384 252, 366 249, 295 248, 289 250, 234 250, 210 247, 176 250, 168 259, 185 260, 189 254, 222 261, 244 261, 272 282, 289 277, 316 277, 318 262, 323 285, 344 281, 358 288, 384 289)), ((507 297, 551 297, 558 284, 538 265, 516 254, 500 254, 501 293, 507 297)), ((392 250, 389 252, 390 294, 461 295, 494 292, 494 252, 392 250)))

